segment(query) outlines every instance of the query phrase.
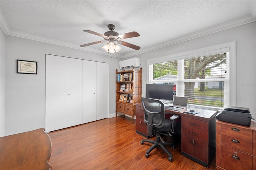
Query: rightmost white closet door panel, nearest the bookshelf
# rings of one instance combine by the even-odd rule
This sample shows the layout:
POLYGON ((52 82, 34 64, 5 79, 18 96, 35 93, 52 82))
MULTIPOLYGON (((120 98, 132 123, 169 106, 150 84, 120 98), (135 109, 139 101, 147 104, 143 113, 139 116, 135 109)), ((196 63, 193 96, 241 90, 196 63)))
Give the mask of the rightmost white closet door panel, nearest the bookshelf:
POLYGON ((108 64, 97 62, 97 120, 108 117, 108 64))

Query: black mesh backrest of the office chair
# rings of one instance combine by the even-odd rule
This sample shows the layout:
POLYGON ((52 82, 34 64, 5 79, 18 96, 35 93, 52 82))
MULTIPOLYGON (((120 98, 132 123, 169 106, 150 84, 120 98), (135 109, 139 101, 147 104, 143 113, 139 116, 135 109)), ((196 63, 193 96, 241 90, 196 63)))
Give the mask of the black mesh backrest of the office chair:
POLYGON ((164 104, 160 100, 141 98, 144 108, 144 122, 147 125, 148 136, 154 136, 154 128, 164 126, 164 104))

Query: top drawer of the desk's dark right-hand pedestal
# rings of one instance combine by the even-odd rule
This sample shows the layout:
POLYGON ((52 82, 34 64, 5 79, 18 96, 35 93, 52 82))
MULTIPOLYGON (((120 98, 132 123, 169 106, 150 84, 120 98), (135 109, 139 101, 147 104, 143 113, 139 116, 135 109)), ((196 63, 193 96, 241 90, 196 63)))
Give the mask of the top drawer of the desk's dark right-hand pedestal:
POLYGON ((185 126, 188 128, 194 128, 194 129, 208 132, 208 122, 182 116, 181 124, 182 126, 185 126))

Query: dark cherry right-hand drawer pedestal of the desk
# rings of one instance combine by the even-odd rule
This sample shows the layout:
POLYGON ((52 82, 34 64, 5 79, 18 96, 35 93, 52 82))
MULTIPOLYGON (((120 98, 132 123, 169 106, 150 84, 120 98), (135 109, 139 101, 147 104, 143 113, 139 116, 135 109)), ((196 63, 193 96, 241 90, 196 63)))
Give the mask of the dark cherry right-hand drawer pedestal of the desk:
POLYGON ((181 118, 182 155, 208 167, 215 156, 215 114, 208 120, 199 116, 181 118))

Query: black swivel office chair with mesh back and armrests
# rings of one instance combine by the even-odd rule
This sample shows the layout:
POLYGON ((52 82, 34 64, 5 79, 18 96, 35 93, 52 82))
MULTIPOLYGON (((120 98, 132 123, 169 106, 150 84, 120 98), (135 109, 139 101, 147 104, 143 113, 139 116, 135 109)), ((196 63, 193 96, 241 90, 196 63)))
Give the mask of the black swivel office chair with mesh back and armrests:
POLYGON ((174 117, 170 119, 166 119, 164 116, 164 104, 155 99, 151 98, 141 98, 141 102, 144 108, 144 122, 148 129, 148 136, 153 137, 156 135, 156 140, 150 140, 150 139, 142 139, 140 144, 144 144, 144 142, 149 142, 153 144, 147 151, 146 151, 146 158, 148 158, 148 154, 157 147, 162 148, 164 152, 166 152, 169 156, 169 160, 172 161, 172 154, 169 152, 169 150, 166 149, 166 145, 172 146, 174 148, 175 144, 171 142, 164 142, 161 134, 168 135, 173 133, 174 123, 175 119, 179 116, 174 115, 174 117), (172 119, 172 120, 171 120, 172 119))

